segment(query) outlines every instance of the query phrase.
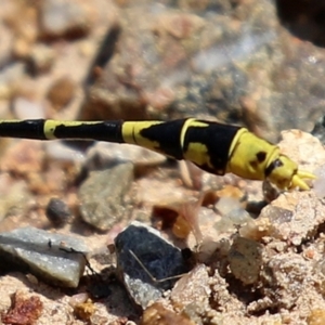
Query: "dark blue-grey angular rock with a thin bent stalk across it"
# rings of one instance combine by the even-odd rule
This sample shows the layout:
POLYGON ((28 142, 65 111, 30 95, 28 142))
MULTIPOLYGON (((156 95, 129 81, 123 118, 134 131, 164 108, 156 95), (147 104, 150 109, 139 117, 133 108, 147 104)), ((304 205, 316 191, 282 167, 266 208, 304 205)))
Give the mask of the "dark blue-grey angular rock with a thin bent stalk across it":
POLYGON ((132 222, 121 232, 115 246, 119 276, 132 300, 143 309, 150 301, 160 298, 178 280, 167 277, 187 271, 181 250, 165 240, 157 230, 140 222, 132 222))

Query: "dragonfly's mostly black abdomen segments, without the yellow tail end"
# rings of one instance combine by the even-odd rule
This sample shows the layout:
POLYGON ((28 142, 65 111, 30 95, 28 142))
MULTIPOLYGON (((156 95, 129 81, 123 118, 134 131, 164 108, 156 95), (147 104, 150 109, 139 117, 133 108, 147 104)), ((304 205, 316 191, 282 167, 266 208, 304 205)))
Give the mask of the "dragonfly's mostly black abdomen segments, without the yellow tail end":
POLYGON ((239 129, 194 118, 171 121, 87 122, 39 119, 0 122, 0 136, 136 144, 178 160, 191 160, 208 172, 224 174, 231 144, 239 129))

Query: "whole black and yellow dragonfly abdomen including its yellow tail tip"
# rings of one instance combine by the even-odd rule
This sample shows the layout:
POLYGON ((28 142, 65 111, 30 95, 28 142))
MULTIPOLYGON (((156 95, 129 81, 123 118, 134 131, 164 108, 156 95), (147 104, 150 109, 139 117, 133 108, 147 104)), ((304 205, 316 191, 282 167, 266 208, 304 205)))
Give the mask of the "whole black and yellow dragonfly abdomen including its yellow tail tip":
POLYGON ((280 190, 308 191, 311 172, 282 154, 280 147, 246 128, 196 118, 169 121, 53 119, 0 120, 0 136, 35 140, 92 140, 139 145, 200 169, 249 180, 269 180, 280 190))

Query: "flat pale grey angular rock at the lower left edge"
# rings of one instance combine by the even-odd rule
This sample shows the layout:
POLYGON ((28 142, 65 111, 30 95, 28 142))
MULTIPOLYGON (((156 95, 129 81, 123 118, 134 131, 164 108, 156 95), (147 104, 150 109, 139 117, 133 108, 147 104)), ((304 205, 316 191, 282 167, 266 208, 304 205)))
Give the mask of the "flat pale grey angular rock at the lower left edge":
POLYGON ((0 269, 29 272, 51 285, 77 287, 87 251, 78 238, 34 227, 0 234, 0 269))

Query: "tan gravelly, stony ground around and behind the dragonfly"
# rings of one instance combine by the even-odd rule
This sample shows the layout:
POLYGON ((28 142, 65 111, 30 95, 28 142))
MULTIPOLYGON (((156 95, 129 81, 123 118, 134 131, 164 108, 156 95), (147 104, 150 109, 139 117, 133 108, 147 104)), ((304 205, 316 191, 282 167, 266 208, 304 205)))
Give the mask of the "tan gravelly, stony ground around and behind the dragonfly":
POLYGON ((66 288, 2 263, 0 323, 325 323, 325 152, 303 132, 325 112, 322 3, 0 6, 0 118, 196 116, 274 142, 300 129, 285 131, 281 148, 320 176, 311 191, 277 196, 261 182, 210 176, 132 146, 1 139, 0 232, 74 236, 96 274, 87 269, 66 288), (47 217, 53 199, 60 220, 47 217), (134 220, 192 250, 191 271, 144 310, 107 248, 134 220))

